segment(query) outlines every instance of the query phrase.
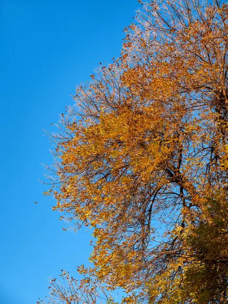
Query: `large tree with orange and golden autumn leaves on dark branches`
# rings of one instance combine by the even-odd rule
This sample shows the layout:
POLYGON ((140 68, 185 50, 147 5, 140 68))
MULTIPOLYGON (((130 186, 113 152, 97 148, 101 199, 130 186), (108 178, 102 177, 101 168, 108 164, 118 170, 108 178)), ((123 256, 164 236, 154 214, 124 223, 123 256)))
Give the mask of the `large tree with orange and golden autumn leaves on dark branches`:
POLYGON ((144 3, 53 136, 54 210, 140 302, 228 303, 227 21, 217 1, 144 3))

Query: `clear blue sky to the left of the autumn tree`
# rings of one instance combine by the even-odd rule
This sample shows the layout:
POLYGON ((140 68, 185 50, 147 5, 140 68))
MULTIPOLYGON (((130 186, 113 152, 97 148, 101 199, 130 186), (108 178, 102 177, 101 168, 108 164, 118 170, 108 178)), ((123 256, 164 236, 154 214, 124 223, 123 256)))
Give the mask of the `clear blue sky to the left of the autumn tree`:
POLYGON ((120 55, 137 0, 0 0, 1 304, 32 304, 60 269, 87 263, 90 235, 62 231, 41 163, 51 163, 43 129, 99 62, 120 55), (34 201, 39 204, 34 204, 34 201))

